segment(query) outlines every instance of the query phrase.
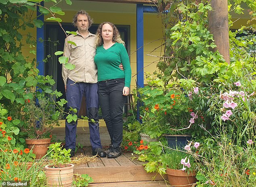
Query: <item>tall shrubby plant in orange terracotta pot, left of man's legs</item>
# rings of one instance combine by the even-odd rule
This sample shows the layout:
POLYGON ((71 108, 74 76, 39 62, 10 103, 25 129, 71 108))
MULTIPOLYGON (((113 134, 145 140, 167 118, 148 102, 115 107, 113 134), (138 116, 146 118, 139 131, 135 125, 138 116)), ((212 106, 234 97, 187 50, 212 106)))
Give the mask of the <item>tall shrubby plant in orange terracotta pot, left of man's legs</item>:
POLYGON ((36 159, 42 158, 50 145, 50 135, 55 125, 63 117, 63 110, 55 110, 57 104, 52 104, 46 96, 37 96, 26 100, 23 108, 25 125, 22 131, 27 133, 27 147, 36 154, 36 159))

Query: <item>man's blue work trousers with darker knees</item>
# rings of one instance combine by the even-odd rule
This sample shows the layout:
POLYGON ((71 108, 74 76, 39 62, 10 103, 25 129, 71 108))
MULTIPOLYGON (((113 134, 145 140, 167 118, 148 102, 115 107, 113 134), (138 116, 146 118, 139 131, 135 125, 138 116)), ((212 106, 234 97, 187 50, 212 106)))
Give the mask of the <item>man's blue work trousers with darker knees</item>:
MULTIPOLYGON (((87 116, 94 119, 95 123, 89 122, 90 129, 90 143, 92 149, 102 148, 99 134, 99 98, 98 98, 98 83, 76 83, 67 79, 67 107, 76 108, 79 112, 83 95, 86 97, 87 116)), ((84 107, 84 106, 82 106, 84 107)), ((76 114, 78 114, 78 112, 76 114)), ((72 113, 72 112, 71 112, 72 113)), ((73 113, 72 113, 73 114, 73 113)), ((72 121, 65 123, 65 148, 76 149, 76 123, 72 121)))

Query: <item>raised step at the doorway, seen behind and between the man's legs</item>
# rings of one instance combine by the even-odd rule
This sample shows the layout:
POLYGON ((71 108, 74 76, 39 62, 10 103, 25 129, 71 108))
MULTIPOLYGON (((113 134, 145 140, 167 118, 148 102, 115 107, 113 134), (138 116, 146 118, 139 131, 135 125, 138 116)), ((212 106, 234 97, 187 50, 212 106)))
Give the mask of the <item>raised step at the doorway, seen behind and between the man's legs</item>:
MULTIPOLYGON (((65 141, 65 127, 55 127, 52 135, 56 140, 65 141)), ((90 146, 90 131, 89 127, 77 127, 76 131, 76 145, 90 146)), ((107 127, 100 127, 101 145, 108 146, 110 143, 109 133, 107 127)))

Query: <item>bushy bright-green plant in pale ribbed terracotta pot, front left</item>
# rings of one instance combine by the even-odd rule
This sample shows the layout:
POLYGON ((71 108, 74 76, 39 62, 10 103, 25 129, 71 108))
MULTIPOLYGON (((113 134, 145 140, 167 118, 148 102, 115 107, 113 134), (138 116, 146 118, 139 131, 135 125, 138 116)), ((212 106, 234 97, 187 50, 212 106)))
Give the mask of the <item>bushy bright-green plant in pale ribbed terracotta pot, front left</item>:
POLYGON ((74 168, 74 165, 70 164, 71 149, 62 148, 61 142, 51 144, 48 148, 50 151, 49 159, 52 164, 44 167, 47 184, 57 187, 71 187, 74 168))

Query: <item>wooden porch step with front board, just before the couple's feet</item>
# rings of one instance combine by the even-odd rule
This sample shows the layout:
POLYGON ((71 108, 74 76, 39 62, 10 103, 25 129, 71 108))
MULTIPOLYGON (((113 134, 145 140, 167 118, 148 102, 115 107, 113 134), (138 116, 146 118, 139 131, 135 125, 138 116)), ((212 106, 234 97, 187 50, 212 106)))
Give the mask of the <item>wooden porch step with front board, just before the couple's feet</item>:
MULTIPOLYGON (((87 156, 92 156, 91 148, 83 148, 82 151, 80 150, 76 154, 81 154, 82 152, 87 156)), ((96 162, 75 165, 74 173, 88 174, 92 177, 94 183, 111 183, 113 184, 113 186, 110 185, 111 187, 114 187, 114 183, 117 182, 164 180, 157 173, 147 173, 143 164, 145 162, 132 160, 131 154, 123 153, 118 158, 98 158, 96 162)), ((164 178, 167 179, 166 176, 164 178)), ((125 183, 123 185, 124 187, 127 186, 125 183)), ((104 185, 99 186, 103 187, 104 185)), ((105 186, 110 187, 109 185, 105 186)))

